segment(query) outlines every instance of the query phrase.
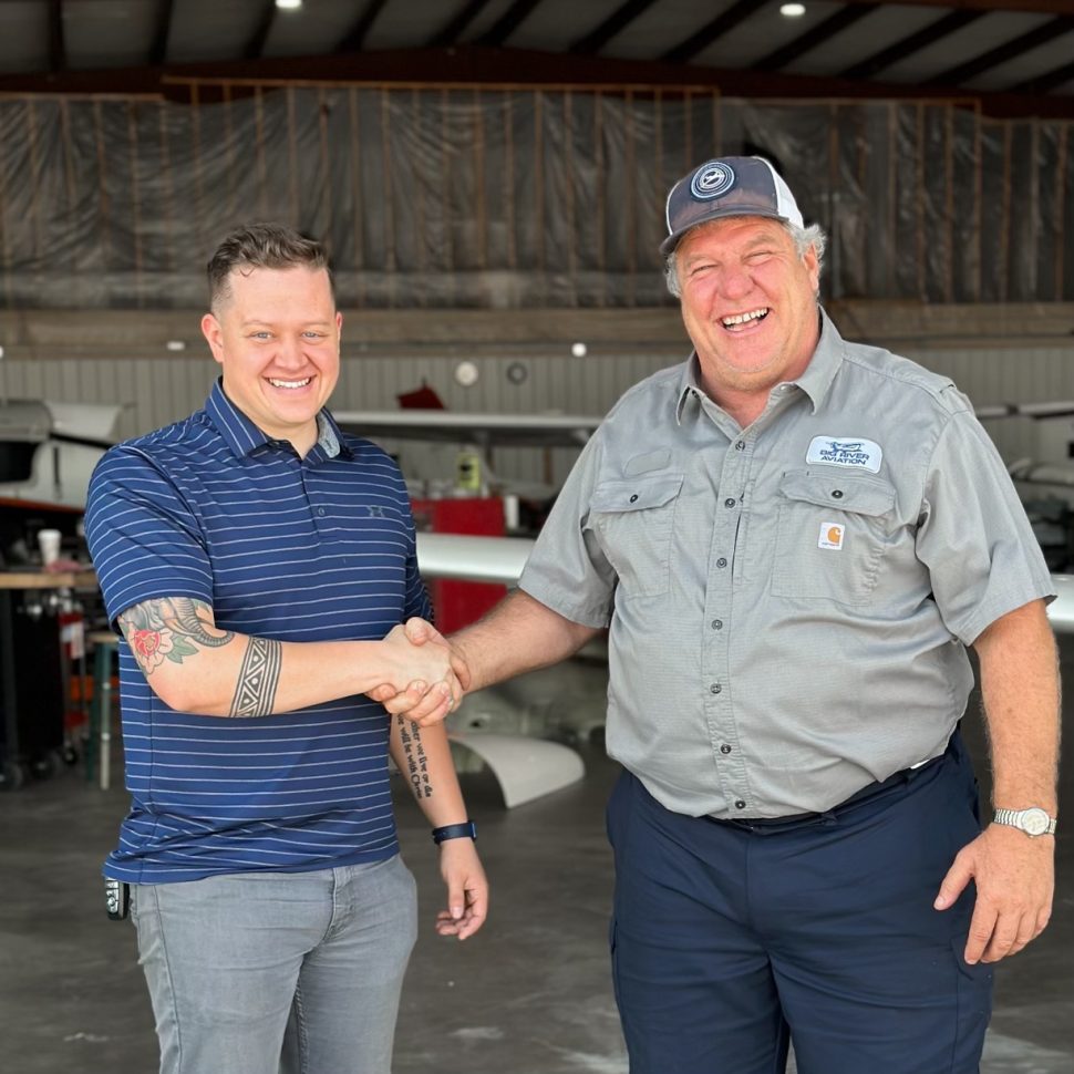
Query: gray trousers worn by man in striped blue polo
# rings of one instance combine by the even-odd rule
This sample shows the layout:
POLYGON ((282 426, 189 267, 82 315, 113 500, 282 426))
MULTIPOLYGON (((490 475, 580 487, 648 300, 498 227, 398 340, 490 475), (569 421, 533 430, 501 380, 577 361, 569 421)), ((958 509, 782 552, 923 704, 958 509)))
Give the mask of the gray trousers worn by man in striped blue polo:
POLYGON ((389 1074, 417 934, 395 856, 132 886, 161 1074, 389 1074))

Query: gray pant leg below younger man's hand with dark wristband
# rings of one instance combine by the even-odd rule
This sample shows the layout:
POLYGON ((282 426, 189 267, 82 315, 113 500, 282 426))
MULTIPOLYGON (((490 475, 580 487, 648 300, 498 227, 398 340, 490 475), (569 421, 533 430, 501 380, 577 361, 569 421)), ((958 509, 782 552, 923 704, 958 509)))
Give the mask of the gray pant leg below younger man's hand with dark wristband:
POLYGON ((302 963, 281 1074, 389 1074, 400 993, 417 938, 403 859, 335 870, 331 926, 302 963))

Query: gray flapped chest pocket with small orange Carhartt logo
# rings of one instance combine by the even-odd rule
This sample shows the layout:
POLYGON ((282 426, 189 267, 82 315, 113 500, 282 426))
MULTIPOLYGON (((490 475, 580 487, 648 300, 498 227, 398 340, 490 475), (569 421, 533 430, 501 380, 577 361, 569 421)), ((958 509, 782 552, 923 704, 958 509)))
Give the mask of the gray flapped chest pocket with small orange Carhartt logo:
POLYGON ((876 589, 895 487, 861 473, 792 471, 779 483, 772 592, 861 603, 876 589))

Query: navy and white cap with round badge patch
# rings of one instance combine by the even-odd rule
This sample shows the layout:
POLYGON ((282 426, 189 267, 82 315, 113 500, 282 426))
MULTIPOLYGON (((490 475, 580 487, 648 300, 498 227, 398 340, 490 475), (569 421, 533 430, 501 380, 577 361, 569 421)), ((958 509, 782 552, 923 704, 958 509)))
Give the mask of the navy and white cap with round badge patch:
POLYGON ((760 156, 725 156, 706 161, 683 176, 668 195, 665 257, 691 228, 725 216, 766 216, 804 227, 791 188, 760 156))

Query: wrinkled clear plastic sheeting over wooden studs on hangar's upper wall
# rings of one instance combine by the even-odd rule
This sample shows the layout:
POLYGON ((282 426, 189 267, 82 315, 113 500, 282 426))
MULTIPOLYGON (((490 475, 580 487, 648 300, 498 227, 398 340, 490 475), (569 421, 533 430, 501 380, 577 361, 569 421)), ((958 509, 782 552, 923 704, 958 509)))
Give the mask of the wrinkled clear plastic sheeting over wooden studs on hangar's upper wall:
POLYGON ((671 184, 763 153, 829 236, 825 298, 1074 299, 1074 138, 925 102, 710 92, 233 87, 0 99, 0 304, 200 308, 236 224, 323 239, 344 307, 670 302, 671 184))

